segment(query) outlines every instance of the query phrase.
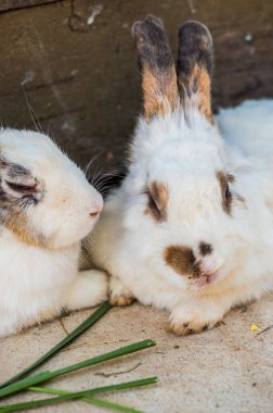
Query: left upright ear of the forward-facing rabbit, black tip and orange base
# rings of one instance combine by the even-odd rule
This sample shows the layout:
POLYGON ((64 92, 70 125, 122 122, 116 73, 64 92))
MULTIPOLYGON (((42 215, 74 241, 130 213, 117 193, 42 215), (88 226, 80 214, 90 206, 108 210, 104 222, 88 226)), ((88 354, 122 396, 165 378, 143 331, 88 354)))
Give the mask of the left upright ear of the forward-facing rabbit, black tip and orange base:
POLYGON ((145 117, 173 111, 179 102, 174 63, 159 18, 148 15, 132 26, 142 71, 145 117))

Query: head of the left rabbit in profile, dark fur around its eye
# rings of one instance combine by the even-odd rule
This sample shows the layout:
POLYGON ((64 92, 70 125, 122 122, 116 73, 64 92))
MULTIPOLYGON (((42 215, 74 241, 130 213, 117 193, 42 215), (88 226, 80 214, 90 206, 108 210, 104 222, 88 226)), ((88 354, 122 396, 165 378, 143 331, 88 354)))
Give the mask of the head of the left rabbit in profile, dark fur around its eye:
POLYGON ((48 249, 92 230, 102 197, 46 135, 0 129, 0 225, 21 241, 48 249))

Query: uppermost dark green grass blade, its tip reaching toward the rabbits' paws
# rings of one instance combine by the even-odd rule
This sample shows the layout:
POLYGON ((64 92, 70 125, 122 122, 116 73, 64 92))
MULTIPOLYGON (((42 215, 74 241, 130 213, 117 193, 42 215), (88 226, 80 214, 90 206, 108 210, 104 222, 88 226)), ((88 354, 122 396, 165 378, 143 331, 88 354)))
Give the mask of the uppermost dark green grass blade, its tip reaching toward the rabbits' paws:
POLYGON ((69 336, 65 337, 56 346, 54 346, 50 351, 38 359, 34 364, 29 365, 27 368, 23 370, 15 376, 11 377, 9 380, 0 385, 0 389, 17 381, 28 373, 32 372, 35 368, 43 364, 46 361, 50 360, 57 351, 63 349, 65 346, 73 342, 77 337, 95 324, 109 309, 112 308, 109 302, 103 303, 96 311, 94 311, 83 323, 81 323, 75 330, 73 330, 69 336))

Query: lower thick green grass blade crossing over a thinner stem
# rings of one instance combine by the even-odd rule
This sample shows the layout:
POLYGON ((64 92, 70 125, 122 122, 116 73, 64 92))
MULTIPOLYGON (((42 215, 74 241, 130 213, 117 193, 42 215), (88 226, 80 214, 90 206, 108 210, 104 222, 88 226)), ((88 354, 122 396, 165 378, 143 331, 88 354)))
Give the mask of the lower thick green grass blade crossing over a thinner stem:
POLYGON ((80 399, 82 397, 89 397, 92 395, 103 393, 106 391, 127 390, 127 389, 140 387, 140 386, 153 385, 155 383, 157 383, 157 377, 148 377, 148 378, 143 378, 141 380, 121 383, 118 385, 96 387, 94 389, 72 392, 72 393, 63 395, 63 396, 52 398, 52 399, 42 399, 42 400, 35 400, 35 401, 26 401, 23 403, 6 404, 0 408, 0 412, 6 413, 6 412, 17 412, 17 411, 27 410, 27 409, 36 409, 36 408, 40 408, 44 405, 61 403, 66 400, 80 399))

